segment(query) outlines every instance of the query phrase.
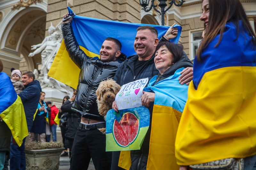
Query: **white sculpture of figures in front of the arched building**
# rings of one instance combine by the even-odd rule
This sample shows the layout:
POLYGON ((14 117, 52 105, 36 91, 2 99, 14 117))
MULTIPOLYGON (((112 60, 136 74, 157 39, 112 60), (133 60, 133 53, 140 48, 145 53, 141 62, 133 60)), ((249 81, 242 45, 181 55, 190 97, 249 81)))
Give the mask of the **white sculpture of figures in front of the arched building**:
POLYGON ((31 46, 31 49, 35 51, 32 53, 29 53, 29 57, 33 57, 36 54, 39 54, 41 52, 42 57, 42 69, 40 71, 40 74, 38 74, 38 71, 35 69, 34 74, 36 76, 36 79, 40 82, 40 85, 42 89, 50 88, 50 89, 57 89, 61 92, 65 92, 67 94, 72 94, 73 90, 59 82, 58 80, 48 77, 48 71, 50 70, 52 66, 52 62, 54 60, 55 55, 58 52, 58 49, 60 48, 61 41, 63 39, 62 32, 61 32, 61 23, 56 26, 51 26, 48 28, 49 36, 45 37, 42 43, 31 46))

